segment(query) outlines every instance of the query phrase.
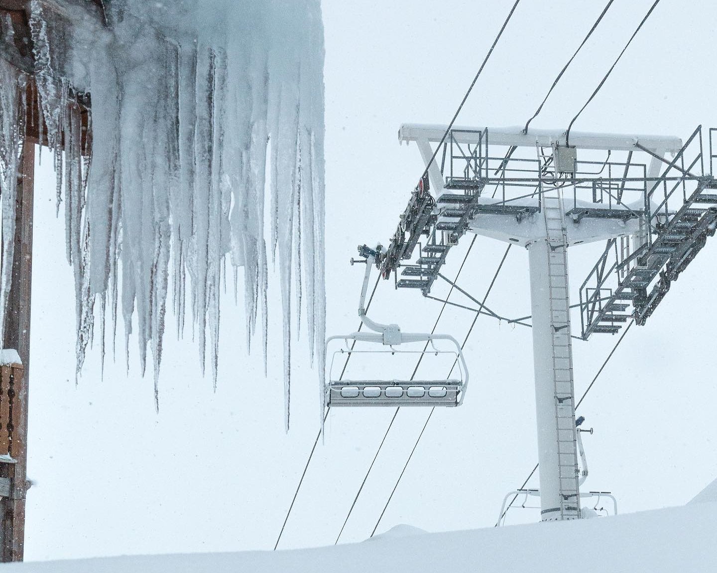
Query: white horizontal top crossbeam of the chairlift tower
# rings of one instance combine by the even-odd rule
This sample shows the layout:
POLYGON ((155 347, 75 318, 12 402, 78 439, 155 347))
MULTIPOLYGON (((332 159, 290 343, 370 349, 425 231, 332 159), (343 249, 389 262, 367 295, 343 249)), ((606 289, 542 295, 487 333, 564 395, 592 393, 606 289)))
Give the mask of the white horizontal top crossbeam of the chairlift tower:
MULTIPOLYGON (((404 123, 399 128, 399 142, 438 143, 446 132, 447 126, 423 123, 404 123)), ((484 127, 453 126, 452 137, 457 143, 478 143, 484 127)), ((507 128, 488 128, 490 144, 495 146, 549 147, 554 143, 565 145, 565 131, 559 129, 528 129, 513 126, 507 128)), ((650 151, 677 153, 683 146, 682 140, 672 136, 649 136, 626 133, 588 133, 571 132, 571 146, 580 149, 598 149, 612 151, 634 151, 635 144, 650 151)))

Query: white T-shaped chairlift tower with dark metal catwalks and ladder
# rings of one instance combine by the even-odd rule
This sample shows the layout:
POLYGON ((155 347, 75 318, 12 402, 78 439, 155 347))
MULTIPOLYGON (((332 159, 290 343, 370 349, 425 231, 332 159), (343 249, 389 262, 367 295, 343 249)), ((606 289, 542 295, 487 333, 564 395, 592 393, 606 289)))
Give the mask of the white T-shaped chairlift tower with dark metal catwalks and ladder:
POLYGON ((445 133, 445 126, 415 124, 399 130, 399 141, 417 143, 427 176, 379 261, 381 271, 384 278, 395 273, 397 288, 427 295, 466 232, 526 247, 541 520, 580 518, 567 249, 606 242, 580 288, 581 338, 617 333, 631 316, 644 324, 717 227, 715 130, 709 174, 701 128, 684 145, 675 137, 521 128, 445 133), (421 200, 428 186, 432 197, 421 200), (422 236, 427 240, 412 260, 422 236))

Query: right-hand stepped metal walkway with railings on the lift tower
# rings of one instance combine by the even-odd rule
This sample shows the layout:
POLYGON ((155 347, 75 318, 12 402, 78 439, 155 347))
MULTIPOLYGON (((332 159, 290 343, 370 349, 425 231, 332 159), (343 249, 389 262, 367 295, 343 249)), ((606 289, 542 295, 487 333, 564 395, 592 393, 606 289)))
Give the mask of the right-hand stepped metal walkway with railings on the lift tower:
MULTIPOLYGON (((703 207, 716 203, 713 195, 703 195, 703 191, 716 186, 711 176, 713 160, 717 156, 713 148, 713 132, 717 132, 717 128, 709 130, 708 175, 704 173, 701 126, 693 131, 670 161, 639 143, 635 144, 636 148, 662 161, 665 166, 655 179, 650 179, 647 173, 643 176, 645 208, 641 223, 645 232, 640 237, 642 244, 638 242, 634 252, 626 254, 622 249, 618 250, 616 240, 609 240, 580 286, 583 338, 594 331, 617 331, 614 324, 607 328, 599 328, 599 325, 610 323, 609 318, 618 301, 622 308, 629 306, 628 302, 632 303, 632 316, 637 323, 644 323, 667 292, 670 280, 674 280, 701 249, 704 237, 714 234, 715 207, 703 207), (701 208, 695 208, 693 204, 701 208), (602 303, 606 296, 607 303, 602 303)), ((623 179, 631 181, 632 177, 623 179)), ((609 194, 612 195, 612 189, 609 194)))

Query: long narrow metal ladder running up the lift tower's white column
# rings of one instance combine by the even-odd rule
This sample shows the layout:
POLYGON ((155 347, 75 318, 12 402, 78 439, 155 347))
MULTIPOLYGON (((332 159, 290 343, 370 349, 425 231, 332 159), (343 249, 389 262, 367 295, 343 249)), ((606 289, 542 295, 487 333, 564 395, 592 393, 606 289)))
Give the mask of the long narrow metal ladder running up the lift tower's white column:
POLYGON ((573 349, 570 338, 567 233, 562 193, 543 196, 543 217, 549 245, 548 278, 555 383, 555 420, 560 476, 560 518, 580 517, 578 458, 575 437, 573 349))

